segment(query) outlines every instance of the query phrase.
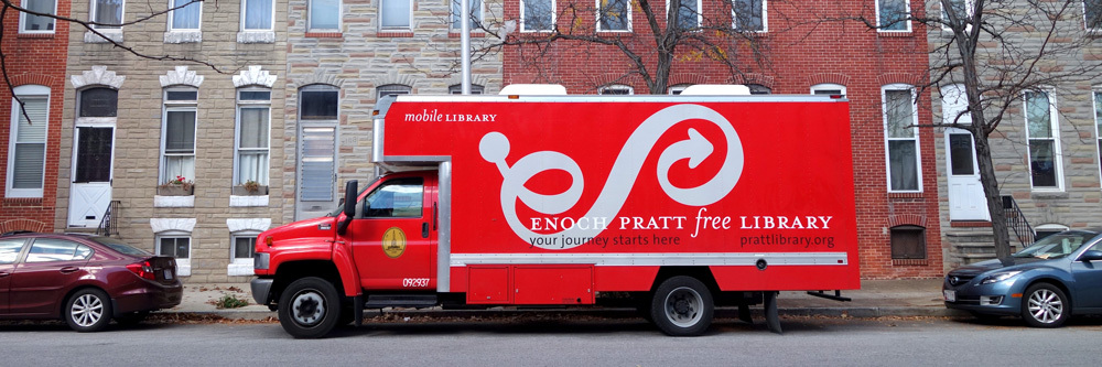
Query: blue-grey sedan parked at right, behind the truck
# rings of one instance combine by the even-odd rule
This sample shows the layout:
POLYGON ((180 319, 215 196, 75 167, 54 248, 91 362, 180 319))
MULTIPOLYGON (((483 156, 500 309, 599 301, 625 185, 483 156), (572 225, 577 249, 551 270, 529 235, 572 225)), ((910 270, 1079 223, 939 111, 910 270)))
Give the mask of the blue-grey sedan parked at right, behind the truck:
POLYGON ((1102 236, 1066 230, 1014 253, 950 271, 946 306, 977 317, 1020 315, 1035 327, 1059 327, 1070 315, 1102 313, 1102 236))

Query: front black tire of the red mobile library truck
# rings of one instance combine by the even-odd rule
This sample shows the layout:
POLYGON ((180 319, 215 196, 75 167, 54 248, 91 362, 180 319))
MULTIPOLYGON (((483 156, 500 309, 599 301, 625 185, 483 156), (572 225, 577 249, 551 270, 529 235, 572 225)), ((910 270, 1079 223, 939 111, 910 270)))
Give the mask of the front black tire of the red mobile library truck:
POLYGON ((295 338, 325 336, 341 319, 341 298, 328 281, 310 277, 295 280, 279 299, 279 323, 295 338))

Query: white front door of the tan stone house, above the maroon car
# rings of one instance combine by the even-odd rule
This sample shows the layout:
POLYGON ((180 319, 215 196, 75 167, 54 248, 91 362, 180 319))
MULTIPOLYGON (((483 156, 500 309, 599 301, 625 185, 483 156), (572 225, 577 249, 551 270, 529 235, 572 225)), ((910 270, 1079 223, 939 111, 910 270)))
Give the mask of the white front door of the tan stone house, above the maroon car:
POLYGON ((97 227, 111 203, 115 128, 77 127, 69 187, 69 227, 97 227))

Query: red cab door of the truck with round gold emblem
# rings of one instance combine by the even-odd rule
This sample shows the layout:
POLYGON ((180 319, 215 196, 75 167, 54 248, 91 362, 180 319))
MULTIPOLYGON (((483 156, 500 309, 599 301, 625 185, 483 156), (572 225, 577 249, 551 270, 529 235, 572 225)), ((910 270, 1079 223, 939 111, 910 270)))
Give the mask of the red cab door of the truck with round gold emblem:
POLYGON ((365 289, 435 289, 433 187, 429 174, 396 175, 358 203, 346 240, 365 289))

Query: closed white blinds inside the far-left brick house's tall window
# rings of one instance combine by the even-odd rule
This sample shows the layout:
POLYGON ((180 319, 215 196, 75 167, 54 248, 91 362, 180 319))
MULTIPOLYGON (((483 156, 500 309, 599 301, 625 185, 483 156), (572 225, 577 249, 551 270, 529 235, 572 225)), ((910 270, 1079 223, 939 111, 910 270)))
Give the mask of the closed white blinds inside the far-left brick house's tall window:
POLYGON ((46 98, 22 97, 26 115, 31 121, 19 111, 19 102, 12 101, 19 115, 15 128, 14 168, 12 170, 12 188, 42 188, 42 174, 45 171, 46 158, 46 98))

